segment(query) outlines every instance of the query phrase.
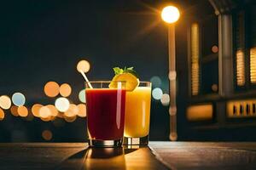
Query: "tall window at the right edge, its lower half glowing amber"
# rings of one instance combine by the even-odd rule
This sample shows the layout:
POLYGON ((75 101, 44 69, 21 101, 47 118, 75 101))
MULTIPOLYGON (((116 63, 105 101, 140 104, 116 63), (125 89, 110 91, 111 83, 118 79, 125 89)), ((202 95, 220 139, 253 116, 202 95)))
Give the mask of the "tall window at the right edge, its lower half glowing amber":
POLYGON ((256 84, 256 6, 241 8, 233 15, 237 88, 256 84))

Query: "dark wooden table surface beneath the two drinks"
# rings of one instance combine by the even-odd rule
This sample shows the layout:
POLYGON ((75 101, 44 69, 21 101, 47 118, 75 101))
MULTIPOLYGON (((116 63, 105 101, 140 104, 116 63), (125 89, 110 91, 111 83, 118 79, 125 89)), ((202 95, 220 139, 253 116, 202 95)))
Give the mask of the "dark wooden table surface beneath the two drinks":
POLYGON ((119 149, 0 144, 0 169, 256 169, 256 143, 150 142, 119 149))

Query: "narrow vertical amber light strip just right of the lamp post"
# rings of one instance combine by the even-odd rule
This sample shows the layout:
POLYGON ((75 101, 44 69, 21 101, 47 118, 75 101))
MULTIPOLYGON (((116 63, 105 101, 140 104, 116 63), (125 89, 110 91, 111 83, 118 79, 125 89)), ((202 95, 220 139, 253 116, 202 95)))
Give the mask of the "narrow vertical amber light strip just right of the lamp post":
POLYGON ((191 94, 199 93, 199 26, 191 26, 191 94))

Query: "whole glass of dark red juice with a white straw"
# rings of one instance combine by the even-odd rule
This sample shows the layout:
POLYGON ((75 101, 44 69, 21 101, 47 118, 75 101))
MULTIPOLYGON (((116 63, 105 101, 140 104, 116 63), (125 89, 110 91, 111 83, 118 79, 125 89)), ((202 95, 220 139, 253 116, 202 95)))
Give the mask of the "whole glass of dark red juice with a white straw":
POLYGON ((125 82, 85 82, 87 132, 89 145, 119 147, 122 145, 125 124, 125 82))

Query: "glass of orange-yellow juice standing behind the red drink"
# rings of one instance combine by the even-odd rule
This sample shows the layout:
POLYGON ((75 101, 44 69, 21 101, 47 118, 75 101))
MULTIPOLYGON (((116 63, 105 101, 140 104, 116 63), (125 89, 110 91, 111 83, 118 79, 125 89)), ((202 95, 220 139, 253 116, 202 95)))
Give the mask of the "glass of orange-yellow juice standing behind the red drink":
POLYGON ((133 91, 126 91, 123 144, 148 144, 150 104, 151 82, 140 82, 133 91))

